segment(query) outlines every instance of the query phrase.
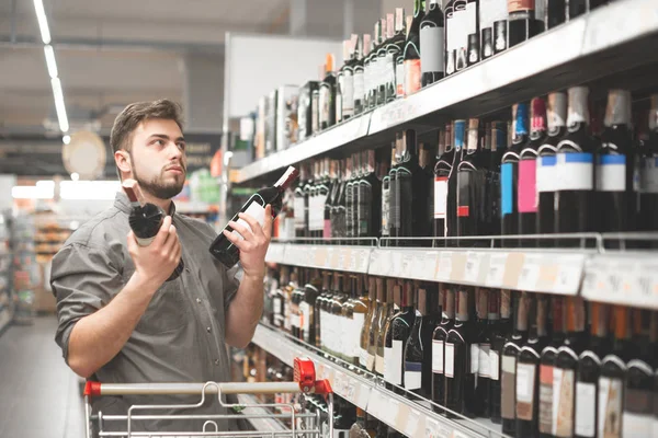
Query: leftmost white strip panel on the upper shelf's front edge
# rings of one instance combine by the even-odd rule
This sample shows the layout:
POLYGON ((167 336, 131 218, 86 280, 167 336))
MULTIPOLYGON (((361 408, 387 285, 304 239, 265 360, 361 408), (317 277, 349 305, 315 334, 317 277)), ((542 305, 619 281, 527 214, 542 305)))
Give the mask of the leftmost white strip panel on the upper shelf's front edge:
POLYGON ((368 131, 371 113, 363 114, 288 149, 254 161, 238 171, 236 183, 243 183, 262 176, 365 137, 368 131))

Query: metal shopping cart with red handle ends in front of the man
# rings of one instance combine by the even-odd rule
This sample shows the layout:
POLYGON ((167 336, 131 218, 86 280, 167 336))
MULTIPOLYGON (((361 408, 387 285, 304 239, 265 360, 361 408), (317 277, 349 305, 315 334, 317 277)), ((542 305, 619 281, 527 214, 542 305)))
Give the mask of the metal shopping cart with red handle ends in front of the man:
MULTIPOLYGON (((309 359, 296 358, 294 362, 294 382, 261 382, 261 383, 101 383, 87 382, 84 387, 84 417, 86 417, 86 437, 291 437, 291 438, 320 438, 322 427, 320 426, 319 413, 300 412, 299 405, 286 403, 226 403, 223 395, 228 394, 322 394, 327 401, 328 417, 325 425, 325 434, 333 436, 333 393, 328 380, 316 380, 315 366, 309 359), (102 412, 92 413, 91 399, 101 396, 117 395, 198 395, 201 401, 193 404, 159 404, 159 405, 131 405, 126 415, 103 415, 102 412), (204 405, 207 396, 217 396, 222 406, 234 411, 235 414, 216 415, 195 415, 194 408, 204 405), (266 408, 264 414, 241 413, 249 407, 266 408), (271 413, 271 410, 279 408, 281 414, 271 413), (154 411, 177 410, 191 411, 191 414, 177 415, 154 415, 154 411), (144 415, 144 411, 149 411, 144 415), (143 412, 143 415, 139 413, 143 412), (287 418, 291 428, 283 430, 240 430, 240 431, 220 431, 217 425, 218 420, 235 420, 239 418, 287 418), (134 431, 135 422, 144 420, 183 420, 194 419, 204 420, 203 430, 200 431, 134 431), (125 425, 125 430, 107 431, 105 426, 110 423, 114 425, 125 425), (94 435, 95 426, 95 435, 94 435), (302 427, 300 427, 302 426, 302 427)), ((113 427, 113 429, 116 429, 113 427)))

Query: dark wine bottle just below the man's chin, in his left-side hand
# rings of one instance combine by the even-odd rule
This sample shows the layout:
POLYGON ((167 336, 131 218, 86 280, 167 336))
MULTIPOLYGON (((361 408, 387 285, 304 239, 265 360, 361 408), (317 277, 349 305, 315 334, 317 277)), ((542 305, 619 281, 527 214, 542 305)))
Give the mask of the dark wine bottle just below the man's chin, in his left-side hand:
MULTIPOLYGON (((123 189, 128 196, 131 206, 133 207, 131 210, 131 216, 128 216, 131 229, 135 233, 137 243, 140 246, 148 246, 154 239, 156 239, 158 231, 160 231, 160 228, 162 227, 164 216, 167 215, 160 207, 155 204, 147 203, 144 199, 139 184, 135 180, 125 180, 123 182, 123 189)), ((181 261, 175 269, 173 269, 173 273, 171 273, 167 281, 177 279, 183 272, 184 267, 185 265, 183 263, 183 258, 181 257, 181 261)))

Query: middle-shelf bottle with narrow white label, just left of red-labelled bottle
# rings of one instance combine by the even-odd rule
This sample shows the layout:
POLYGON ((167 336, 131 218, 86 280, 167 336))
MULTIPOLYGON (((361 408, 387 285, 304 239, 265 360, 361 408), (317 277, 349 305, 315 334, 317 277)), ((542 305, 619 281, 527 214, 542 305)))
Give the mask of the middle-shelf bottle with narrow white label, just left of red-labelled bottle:
MULTIPOLYGON (((436 164, 434 164, 434 237, 445 238, 447 215, 447 178, 452 169, 455 150, 452 142, 452 124, 446 124, 445 129, 439 132, 439 150, 436 164)), ((438 245, 445 246, 445 241, 440 240, 438 245)))

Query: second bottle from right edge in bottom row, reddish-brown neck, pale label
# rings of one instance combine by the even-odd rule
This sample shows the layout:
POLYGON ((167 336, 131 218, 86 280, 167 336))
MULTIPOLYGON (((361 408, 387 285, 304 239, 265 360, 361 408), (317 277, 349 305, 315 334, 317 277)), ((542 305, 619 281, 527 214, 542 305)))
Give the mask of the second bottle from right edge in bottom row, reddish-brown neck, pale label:
MULTIPOLYGON (((631 309, 617 306, 613 310, 614 341, 612 351, 601 362, 598 393, 599 437, 622 438, 624 410, 624 381, 626 364, 637 355, 637 346, 631 338, 631 309)), ((631 435, 639 436, 639 435, 631 435)))

